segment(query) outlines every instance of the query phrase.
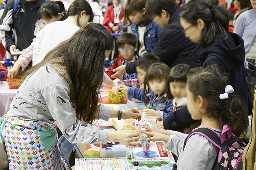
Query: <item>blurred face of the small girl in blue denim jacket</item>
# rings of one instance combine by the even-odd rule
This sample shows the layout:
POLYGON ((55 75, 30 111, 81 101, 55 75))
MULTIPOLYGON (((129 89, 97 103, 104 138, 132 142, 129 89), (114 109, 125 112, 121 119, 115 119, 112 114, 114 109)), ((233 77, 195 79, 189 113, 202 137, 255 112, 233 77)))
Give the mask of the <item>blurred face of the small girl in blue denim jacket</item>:
POLYGON ((150 90, 157 95, 163 94, 163 92, 166 90, 166 83, 166 80, 163 79, 153 79, 148 81, 150 90))

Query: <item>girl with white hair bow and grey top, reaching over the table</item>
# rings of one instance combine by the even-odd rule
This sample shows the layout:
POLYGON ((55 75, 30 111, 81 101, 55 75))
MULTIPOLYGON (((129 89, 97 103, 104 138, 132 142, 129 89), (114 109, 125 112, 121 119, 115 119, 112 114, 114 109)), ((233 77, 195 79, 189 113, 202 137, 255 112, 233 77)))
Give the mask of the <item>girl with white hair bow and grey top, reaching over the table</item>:
MULTIPOLYGON (((232 128, 236 137, 247 132, 247 113, 239 96, 228 85, 228 75, 219 70, 216 64, 207 68, 193 68, 187 74, 187 107, 192 119, 202 120, 198 128, 212 129, 219 136, 223 125, 232 128)), ((162 140, 165 147, 178 156, 178 170, 211 170, 219 148, 209 142, 202 133, 189 137, 186 147, 183 144, 188 134, 172 130, 159 130, 145 127, 150 140, 162 140)), ((193 133, 193 131, 192 131, 193 133)))

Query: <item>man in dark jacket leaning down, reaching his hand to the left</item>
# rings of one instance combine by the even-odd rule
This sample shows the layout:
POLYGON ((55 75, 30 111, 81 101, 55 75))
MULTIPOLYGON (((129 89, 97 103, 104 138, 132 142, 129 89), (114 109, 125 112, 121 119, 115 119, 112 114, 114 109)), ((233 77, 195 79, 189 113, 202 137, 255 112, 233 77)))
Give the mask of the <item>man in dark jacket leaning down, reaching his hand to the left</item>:
MULTIPOLYGON (((200 66, 199 63, 189 59, 189 55, 197 44, 191 42, 183 33, 180 26, 180 7, 173 0, 148 0, 147 13, 154 17, 154 21, 163 29, 159 33, 158 43, 152 51, 159 59, 170 68, 177 64, 188 64, 192 68, 200 66)), ((136 72, 136 62, 128 63, 113 70, 116 74, 112 78, 118 78, 124 73, 136 72)))

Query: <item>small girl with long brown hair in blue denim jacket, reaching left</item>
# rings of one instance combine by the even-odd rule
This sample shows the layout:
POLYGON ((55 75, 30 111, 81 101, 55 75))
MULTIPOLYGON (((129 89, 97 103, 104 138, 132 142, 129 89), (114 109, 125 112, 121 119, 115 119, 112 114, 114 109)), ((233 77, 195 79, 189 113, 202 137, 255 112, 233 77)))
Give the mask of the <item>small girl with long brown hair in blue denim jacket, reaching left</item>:
POLYGON ((150 103, 153 109, 145 109, 147 116, 160 116, 162 119, 173 113, 173 103, 167 99, 167 77, 169 67, 164 63, 155 63, 150 66, 145 76, 144 90, 135 87, 120 87, 119 90, 127 91, 127 98, 143 100, 150 103), (148 86, 148 89, 147 89, 148 86))

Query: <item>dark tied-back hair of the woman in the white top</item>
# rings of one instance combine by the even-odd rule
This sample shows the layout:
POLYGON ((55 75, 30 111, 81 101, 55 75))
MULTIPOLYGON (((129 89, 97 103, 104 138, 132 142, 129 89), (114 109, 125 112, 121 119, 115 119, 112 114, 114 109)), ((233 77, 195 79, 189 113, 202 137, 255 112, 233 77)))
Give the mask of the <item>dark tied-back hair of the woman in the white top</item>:
POLYGON ((68 16, 78 15, 77 25, 80 26, 79 16, 82 11, 86 11, 86 15, 90 15, 89 22, 91 22, 93 20, 94 15, 93 15, 93 11, 91 9, 90 4, 86 0, 75 0, 74 2, 72 2, 72 4, 70 4, 68 8, 67 15, 68 16))

